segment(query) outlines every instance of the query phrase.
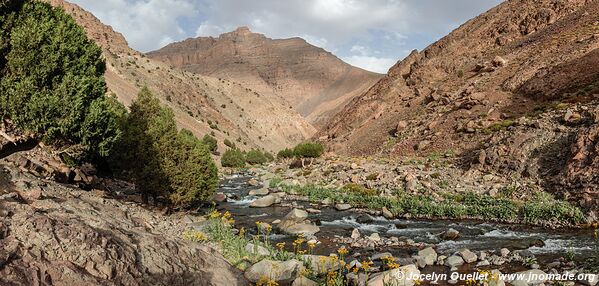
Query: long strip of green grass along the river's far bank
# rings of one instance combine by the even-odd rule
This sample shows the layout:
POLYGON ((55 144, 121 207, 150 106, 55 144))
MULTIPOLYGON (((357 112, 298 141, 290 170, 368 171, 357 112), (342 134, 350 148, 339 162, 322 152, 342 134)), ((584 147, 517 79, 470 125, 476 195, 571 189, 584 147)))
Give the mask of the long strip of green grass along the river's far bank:
POLYGON ((528 201, 492 197, 475 193, 443 194, 442 200, 418 194, 397 191, 394 197, 378 196, 378 192, 347 191, 316 185, 280 185, 285 192, 294 192, 318 203, 329 199, 358 208, 381 209, 386 207, 398 217, 443 219, 481 219, 534 225, 556 224, 576 226, 584 221, 584 214, 571 204, 550 196, 535 196, 528 201))

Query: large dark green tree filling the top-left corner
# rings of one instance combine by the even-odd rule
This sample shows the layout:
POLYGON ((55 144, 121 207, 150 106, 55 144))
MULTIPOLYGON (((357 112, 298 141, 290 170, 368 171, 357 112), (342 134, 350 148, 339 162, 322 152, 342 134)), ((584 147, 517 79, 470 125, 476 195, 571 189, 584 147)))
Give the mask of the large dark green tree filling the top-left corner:
POLYGON ((2 1, 0 11, 0 116, 35 139, 108 156, 121 130, 101 49, 49 4, 2 1))

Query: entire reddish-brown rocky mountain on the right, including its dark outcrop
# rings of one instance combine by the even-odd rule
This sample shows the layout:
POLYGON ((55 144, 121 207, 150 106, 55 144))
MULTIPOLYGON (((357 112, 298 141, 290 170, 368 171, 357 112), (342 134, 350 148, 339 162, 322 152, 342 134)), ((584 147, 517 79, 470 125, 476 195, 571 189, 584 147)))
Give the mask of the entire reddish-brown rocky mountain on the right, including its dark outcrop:
POLYGON ((503 2, 399 61, 315 137, 346 155, 455 154, 596 207, 597 15, 598 1, 503 2))

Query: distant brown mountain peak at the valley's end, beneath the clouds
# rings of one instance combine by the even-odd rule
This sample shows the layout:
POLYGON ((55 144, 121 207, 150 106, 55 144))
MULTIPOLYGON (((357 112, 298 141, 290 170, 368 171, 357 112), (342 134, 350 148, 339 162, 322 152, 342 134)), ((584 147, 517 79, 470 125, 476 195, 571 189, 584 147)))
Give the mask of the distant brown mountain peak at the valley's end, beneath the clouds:
POLYGON ((348 65, 301 38, 273 40, 247 27, 170 44, 147 56, 193 73, 239 82, 288 101, 320 126, 382 75, 348 65))

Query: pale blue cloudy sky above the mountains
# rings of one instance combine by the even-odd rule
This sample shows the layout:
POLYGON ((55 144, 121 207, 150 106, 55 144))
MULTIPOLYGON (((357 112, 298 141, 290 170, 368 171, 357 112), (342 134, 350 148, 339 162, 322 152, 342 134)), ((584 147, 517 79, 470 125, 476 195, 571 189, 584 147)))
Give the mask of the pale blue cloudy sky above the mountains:
POLYGON ((70 0, 141 52, 247 26, 302 37, 345 62, 386 73, 501 0, 70 0))

